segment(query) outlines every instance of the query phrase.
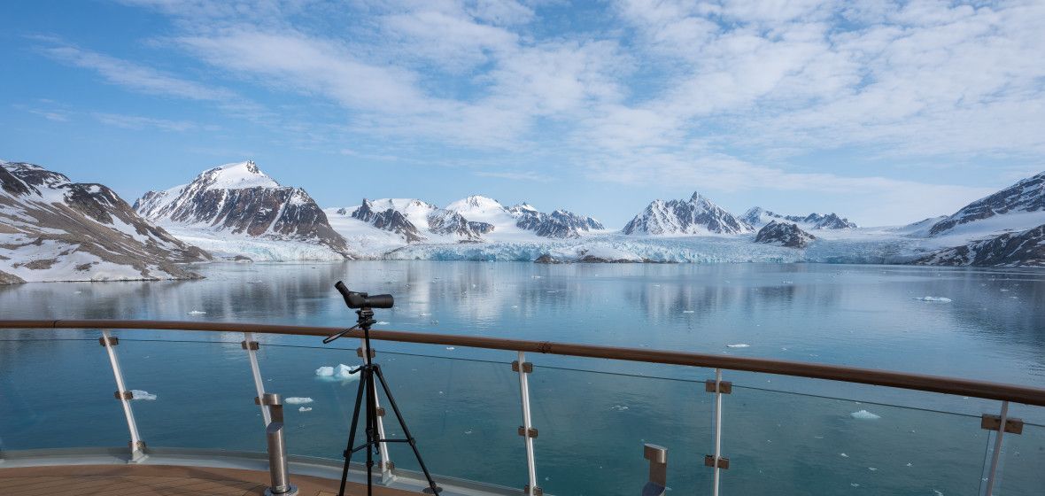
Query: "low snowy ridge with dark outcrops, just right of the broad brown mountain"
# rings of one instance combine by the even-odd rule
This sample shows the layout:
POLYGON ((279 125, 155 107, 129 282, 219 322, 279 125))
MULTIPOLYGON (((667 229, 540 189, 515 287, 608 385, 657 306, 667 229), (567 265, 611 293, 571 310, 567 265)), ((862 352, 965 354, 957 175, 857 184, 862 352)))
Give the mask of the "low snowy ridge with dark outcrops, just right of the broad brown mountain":
POLYGON ((396 233, 407 242, 447 237, 449 241, 482 241, 484 234, 493 231, 492 225, 469 221, 457 212, 413 198, 363 198, 361 206, 336 213, 396 233))

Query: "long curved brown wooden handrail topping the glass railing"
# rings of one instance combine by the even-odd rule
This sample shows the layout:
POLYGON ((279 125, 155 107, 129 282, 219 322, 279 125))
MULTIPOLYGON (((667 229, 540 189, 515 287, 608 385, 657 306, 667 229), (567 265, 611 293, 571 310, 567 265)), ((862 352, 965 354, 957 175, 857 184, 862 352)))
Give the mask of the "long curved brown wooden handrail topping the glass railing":
MULTIPOLYGON (((319 326, 285 326, 273 324, 239 324, 185 321, 0 321, 0 329, 162 329, 177 331, 255 332, 298 336, 326 336, 344 328, 319 326)), ((363 337, 362 331, 352 331, 350 337, 363 337)), ((723 356, 706 353, 660 351, 633 348, 573 345, 500 337, 431 334, 404 331, 370 331, 377 340, 419 343, 425 345, 460 346, 488 350, 524 351, 553 355, 609 358, 614 360, 668 363, 673 365, 704 367, 733 371, 759 372, 812 379, 826 379, 860 384, 899 387, 903 389, 969 396, 988 400, 1012 401, 1027 405, 1045 406, 1045 388, 1002 384, 954 377, 908 374, 903 372, 862 369, 856 367, 807 363, 791 360, 723 356)))

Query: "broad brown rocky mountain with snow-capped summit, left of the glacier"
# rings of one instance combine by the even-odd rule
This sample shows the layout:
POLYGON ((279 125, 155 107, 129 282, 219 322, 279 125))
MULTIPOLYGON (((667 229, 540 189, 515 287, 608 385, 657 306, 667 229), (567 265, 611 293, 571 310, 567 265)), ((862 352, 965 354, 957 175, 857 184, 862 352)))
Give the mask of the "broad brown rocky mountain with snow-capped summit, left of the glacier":
POLYGON ((214 253, 254 260, 352 258, 305 190, 280 186, 250 161, 206 170, 187 185, 149 191, 134 208, 214 253))

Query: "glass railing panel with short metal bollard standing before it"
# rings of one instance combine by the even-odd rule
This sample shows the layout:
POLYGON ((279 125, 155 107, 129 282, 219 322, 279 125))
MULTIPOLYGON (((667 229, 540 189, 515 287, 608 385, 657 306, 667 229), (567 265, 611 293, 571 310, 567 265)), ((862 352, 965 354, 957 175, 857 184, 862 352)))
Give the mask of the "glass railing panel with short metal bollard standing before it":
POLYGON ((703 379, 713 372, 688 369, 692 380, 641 377, 541 367, 543 357, 528 356, 544 493, 641 494, 649 479, 643 445, 651 443, 668 449, 668 494, 709 494, 712 469, 703 457, 714 449, 714 395, 703 379))

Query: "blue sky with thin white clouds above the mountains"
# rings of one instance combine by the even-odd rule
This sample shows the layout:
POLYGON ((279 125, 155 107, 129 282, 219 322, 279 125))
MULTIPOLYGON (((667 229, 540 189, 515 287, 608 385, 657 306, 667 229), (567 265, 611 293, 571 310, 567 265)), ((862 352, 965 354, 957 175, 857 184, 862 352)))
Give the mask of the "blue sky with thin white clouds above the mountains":
POLYGON ((133 202, 254 160, 322 207, 622 227, 698 191, 864 226, 1045 170, 1045 2, 0 2, 0 159, 133 202))

